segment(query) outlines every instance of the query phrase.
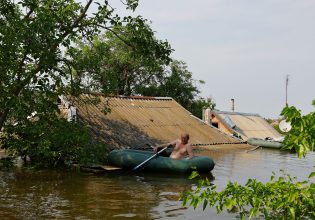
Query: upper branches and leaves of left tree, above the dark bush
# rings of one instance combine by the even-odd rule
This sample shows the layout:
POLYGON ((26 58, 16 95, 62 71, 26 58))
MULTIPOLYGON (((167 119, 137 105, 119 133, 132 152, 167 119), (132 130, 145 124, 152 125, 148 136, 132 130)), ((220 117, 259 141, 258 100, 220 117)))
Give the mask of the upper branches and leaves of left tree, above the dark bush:
MULTIPOLYGON (((126 7, 135 9, 137 4, 127 0, 126 7)), ((0 130, 6 124, 22 124, 33 112, 40 118, 48 109, 57 111, 56 105, 46 106, 53 106, 71 81, 72 72, 65 70, 74 63, 65 51, 71 51, 74 42, 89 42, 105 32, 119 36, 117 26, 138 30, 125 43, 156 46, 152 33, 142 31, 144 19, 121 18, 108 1, 0 0, 0 130)), ((149 50, 142 47, 138 52, 146 57, 149 50)), ((161 50, 159 56, 167 53, 161 50)))

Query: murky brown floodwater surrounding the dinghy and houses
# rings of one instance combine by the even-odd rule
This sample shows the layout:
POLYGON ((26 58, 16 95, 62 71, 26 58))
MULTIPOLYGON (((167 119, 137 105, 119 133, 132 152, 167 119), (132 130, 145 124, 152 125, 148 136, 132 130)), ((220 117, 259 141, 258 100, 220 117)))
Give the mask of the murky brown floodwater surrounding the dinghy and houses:
MULTIPOLYGON (((248 178, 268 181, 272 171, 286 170, 298 179, 314 171, 315 154, 259 149, 229 153, 203 151, 216 166, 218 188, 248 178)), ((90 174, 56 170, 0 170, 0 219, 233 219, 215 209, 182 207, 179 193, 194 187, 185 176, 148 173, 90 174)))

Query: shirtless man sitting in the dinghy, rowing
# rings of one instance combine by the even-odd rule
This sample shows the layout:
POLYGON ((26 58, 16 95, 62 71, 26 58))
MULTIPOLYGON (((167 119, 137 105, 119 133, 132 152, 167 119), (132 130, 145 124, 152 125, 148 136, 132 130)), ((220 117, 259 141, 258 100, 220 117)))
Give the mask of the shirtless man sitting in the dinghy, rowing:
POLYGON ((161 144, 158 145, 154 148, 154 151, 157 152, 159 148, 164 148, 166 146, 172 146, 174 147, 170 158, 175 159, 175 160, 179 160, 179 159, 183 159, 186 156, 189 156, 189 159, 194 157, 194 154, 192 152, 192 147, 191 144, 188 143, 189 141, 189 134, 184 133, 180 136, 180 139, 172 141, 170 143, 167 144, 161 144))

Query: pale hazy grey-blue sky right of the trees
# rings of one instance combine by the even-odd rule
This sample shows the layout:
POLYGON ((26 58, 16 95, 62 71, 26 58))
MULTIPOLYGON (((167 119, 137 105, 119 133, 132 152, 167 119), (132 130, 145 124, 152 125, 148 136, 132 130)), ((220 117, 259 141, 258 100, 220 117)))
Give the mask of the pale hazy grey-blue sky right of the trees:
POLYGON ((314 0, 140 0, 172 57, 186 62, 216 108, 278 118, 288 104, 314 111, 314 0))

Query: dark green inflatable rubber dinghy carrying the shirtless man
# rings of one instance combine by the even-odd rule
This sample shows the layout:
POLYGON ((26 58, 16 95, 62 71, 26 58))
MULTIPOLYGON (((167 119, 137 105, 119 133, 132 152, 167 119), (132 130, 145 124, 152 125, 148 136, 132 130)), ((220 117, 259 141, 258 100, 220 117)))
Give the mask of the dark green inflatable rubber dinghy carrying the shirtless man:
MULTIPOLYGON (((143 150, 113 150, 108 155, 109 165, 131 170, 146 159, 154 155, 153 152, 143 150)), ((191 159, 174 160, 165 156, 157 156, 147 162, 144 171, 190 173, 210 172, 214 168, 214 161, 207 156, 196 156, 191 159)))

